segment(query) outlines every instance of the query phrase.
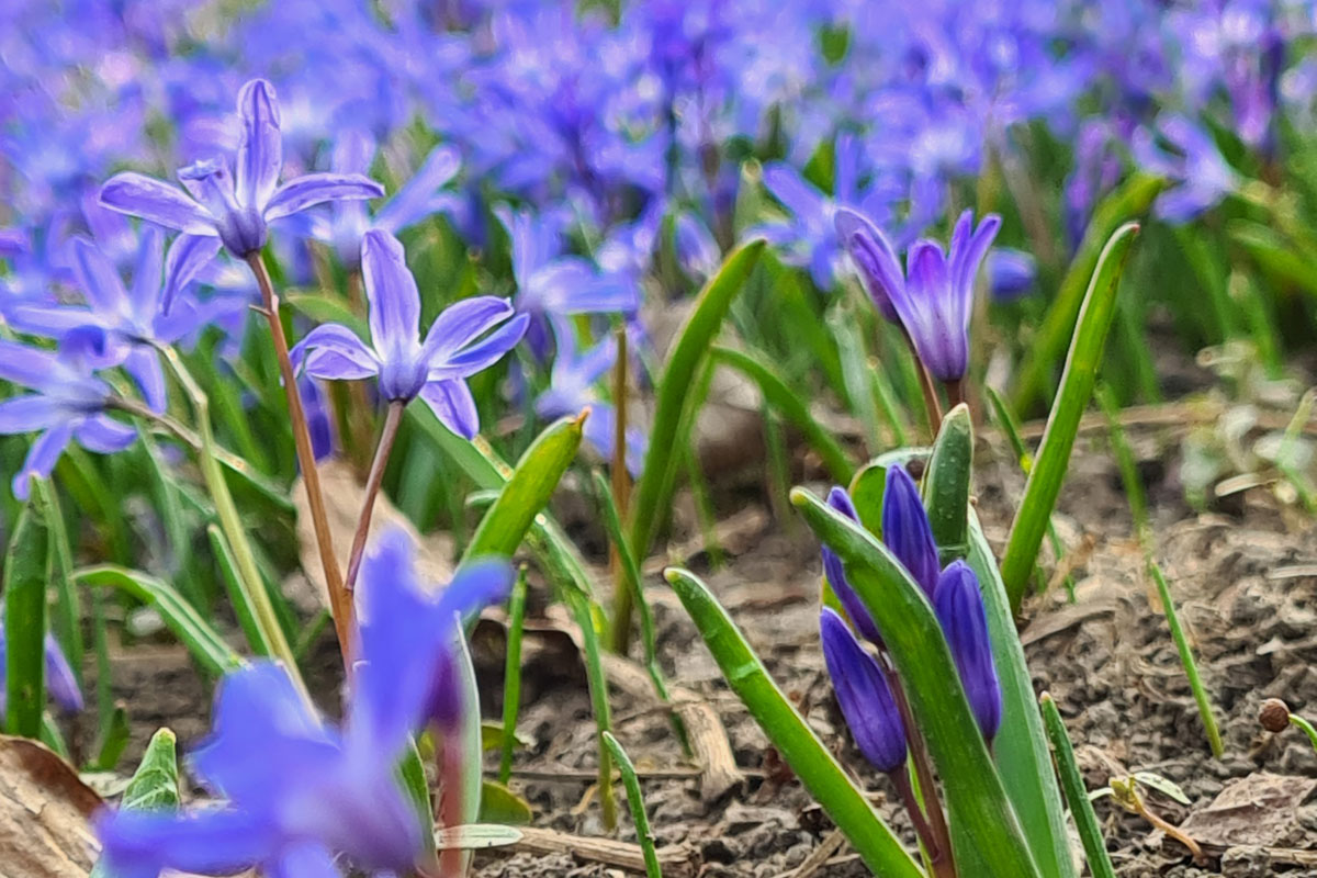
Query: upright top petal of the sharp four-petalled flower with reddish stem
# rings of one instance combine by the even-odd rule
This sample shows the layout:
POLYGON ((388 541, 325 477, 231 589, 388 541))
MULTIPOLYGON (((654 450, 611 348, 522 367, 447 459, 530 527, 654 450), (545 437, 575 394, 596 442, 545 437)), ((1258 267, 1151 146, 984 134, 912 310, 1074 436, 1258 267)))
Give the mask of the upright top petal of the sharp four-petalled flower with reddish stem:
POLYGON ((370 340, 382 365, 400 365, 420 344, 420 292, 398 238, 371 229, 361 241, 361 272, 370 301, 370 340))

